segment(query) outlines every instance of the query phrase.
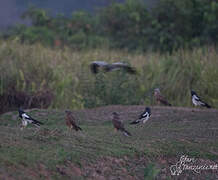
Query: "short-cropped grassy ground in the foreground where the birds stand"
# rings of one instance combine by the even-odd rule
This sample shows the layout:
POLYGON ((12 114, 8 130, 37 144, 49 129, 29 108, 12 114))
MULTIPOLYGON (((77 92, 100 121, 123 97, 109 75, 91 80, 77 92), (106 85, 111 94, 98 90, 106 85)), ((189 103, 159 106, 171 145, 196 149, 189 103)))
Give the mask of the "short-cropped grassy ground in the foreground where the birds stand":
POLYGON ((44 125, 21 131, 18 113, 0 116, 0 179, 217 179, 218 170, 199 174, 169 167, 182 155, 196 163, 218 164, 218 110, 152 106, 143 125, 132 126, 144 106, 104 106, 74 110, 83 131, 68 131, 64 110, 29 109, 44 125), (119 112, 132 133, 115 132, 119 112))

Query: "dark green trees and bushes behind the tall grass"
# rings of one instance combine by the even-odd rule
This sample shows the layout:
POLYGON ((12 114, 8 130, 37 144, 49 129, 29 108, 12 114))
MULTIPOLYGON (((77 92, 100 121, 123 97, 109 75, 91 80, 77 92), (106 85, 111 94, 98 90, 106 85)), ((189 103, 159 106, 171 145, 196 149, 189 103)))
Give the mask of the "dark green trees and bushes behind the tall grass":
POLYGON ((95 14, 74 12, 56 17, 29 8, 23 18, 32 26, 18 25, 3 37, 25 43, 73 49, 110 47, 137 51, 173 52, 180 48, 216 45, 216 0, 161 0, 147 9, 140 0, 112 3, 95 14))

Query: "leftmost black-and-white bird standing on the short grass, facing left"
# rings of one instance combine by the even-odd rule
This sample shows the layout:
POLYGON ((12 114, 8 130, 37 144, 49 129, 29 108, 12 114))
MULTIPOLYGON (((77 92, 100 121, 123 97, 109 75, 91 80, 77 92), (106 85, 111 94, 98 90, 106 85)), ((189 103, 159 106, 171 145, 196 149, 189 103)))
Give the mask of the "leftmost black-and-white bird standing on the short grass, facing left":
POLYGON ((31 116, 27 115, 22 109, 18 110, 19 117, 22 119, 22 128, 26 127, 29 123, 34 124, 37 127, 43 125, 42 122, 33 119, 31 116))

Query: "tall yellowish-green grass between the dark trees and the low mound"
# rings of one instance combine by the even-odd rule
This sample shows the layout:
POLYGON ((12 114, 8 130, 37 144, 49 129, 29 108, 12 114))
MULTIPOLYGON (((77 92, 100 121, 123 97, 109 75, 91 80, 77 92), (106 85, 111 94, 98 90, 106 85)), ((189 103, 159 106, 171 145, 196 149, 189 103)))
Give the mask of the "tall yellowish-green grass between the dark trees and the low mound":
POLYGON ((176 106, 190 106, 190 89, 218 106, 218 53, 213 47, 180 50, 172 55, 108 49, 72 51, 40 44, 0 42, 0 93, 53 93, 53 108, 108 104, 154 104, 153 89, 176 106), (93 75, 89 63, 126 61, 137 75, 123 71, 93 75))

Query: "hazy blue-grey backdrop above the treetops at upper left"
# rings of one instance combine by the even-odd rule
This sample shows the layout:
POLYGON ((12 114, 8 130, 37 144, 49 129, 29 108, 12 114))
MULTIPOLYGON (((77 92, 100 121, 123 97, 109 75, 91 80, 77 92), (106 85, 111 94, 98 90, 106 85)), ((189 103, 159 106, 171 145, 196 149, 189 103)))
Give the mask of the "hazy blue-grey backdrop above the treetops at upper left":
MULTIPOLYGON (((75 10, 93 11, 112 1, 124 2, 125 0, 0 0, 0 28, 21 23, 21 14, 31 5, 45 8, 53 14, 63 13, 71 15, 75 10)), ((147 5, 158 0, 144 0, 147 5)))

